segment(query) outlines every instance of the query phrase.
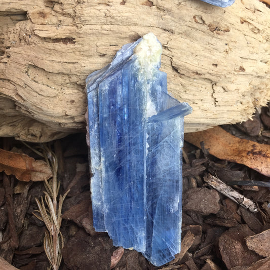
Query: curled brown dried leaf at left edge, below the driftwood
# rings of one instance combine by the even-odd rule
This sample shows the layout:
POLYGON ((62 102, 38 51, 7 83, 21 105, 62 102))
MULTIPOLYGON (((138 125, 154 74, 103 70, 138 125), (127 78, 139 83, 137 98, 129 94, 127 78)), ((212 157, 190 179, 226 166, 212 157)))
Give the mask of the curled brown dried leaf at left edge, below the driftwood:
POLYGON ((52 170, 46 162, 3 149, 0 149, 0 171, 13 174, 21 181, 44 181, 52 177, 52 170))

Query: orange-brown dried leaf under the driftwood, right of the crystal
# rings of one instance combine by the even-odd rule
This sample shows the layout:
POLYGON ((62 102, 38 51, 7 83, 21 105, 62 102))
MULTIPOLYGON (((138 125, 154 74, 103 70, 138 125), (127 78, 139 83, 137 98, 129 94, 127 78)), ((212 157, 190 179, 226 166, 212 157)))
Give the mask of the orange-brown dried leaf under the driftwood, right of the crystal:
POLYGON ((211 155, 244 164, 261 174, 270 176, 270 145, 237 138, 220 127, 186 133, 184 139, 201 148, 209 148, 211 155))

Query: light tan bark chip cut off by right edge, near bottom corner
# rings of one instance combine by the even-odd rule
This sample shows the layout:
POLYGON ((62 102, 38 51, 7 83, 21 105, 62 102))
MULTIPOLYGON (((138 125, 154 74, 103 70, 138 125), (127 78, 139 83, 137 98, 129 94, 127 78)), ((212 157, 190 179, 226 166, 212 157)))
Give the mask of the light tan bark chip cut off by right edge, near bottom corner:
POLYGON ((246 243, 250 250, 259 255, 270 256, 270 229, 264 230, 258 235, 247 237, 246 243))

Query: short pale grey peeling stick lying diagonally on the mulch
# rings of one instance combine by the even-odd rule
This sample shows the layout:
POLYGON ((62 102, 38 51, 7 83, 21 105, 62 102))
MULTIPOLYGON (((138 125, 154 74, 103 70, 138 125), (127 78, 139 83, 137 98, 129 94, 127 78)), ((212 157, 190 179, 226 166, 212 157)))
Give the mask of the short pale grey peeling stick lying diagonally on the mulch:
POLYGON ((204 176, 204 180, 215 188, 217 191, 222 193, 223 195, 227 196, 229 199, 233 200, 234 202, 242 205, 243 207, 247 208, 251 212, 258 212, 256 205, 249 200, 248 198, 241 195, 239 192, 234 190, 232 187, 226 185, 224 182, 219 180, 217 177, 207 174, 204 176))

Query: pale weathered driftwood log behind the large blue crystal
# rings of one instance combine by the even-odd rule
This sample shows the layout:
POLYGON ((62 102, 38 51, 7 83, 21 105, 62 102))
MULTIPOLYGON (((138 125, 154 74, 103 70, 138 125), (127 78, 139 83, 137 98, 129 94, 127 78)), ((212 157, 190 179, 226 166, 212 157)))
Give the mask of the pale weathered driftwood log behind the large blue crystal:
POLYGON ((270 10, 258 0, 0 0, 0 136, 48 141, 85 129, 85 79, 147 32, 185 131, 250 118, 270 99, 270 10))

